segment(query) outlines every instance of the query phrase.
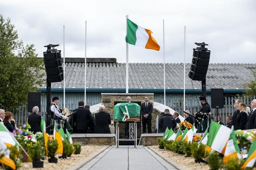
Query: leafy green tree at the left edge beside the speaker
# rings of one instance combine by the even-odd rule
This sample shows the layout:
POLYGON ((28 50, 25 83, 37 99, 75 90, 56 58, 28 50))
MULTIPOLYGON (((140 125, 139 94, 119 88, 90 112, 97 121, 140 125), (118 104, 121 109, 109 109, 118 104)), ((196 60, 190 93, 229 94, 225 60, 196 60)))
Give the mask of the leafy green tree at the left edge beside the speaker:
POLYGON ((28 92, 45 82, 44 61, 37 56, 34 45, 23 45, 10 19, 0 15, 0 107, 26 105, 28 92))

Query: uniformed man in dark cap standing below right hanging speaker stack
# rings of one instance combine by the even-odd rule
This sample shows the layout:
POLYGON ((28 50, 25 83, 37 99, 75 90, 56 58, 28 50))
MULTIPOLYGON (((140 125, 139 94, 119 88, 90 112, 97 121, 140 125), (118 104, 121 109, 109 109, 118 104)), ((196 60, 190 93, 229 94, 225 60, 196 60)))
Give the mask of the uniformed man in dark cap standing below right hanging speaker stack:
MULTIPOLYGON (((199 97, 200 103, 202 104, 202 107, 199 112, 194 113, 197 119, 199 119, 200 123, 198 123, 198 129, 196 133, 204 133, 206 128, 208 127, 208 117, 204 113, 210 113, 211 107, 207 103, 205 96, 199 97)), ((209 122, 210 126, 210 122, 209 122)))

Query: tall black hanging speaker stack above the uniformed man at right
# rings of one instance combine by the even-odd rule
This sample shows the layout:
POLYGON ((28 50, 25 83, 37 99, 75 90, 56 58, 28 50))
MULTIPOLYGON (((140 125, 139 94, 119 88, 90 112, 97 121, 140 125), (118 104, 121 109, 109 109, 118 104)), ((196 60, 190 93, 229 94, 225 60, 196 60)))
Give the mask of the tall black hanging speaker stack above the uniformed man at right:
POLYGON ((206 77, 209 66, 210 51, 193 49, 192 65, 188 77, 192 80, 202 81, 206 77))

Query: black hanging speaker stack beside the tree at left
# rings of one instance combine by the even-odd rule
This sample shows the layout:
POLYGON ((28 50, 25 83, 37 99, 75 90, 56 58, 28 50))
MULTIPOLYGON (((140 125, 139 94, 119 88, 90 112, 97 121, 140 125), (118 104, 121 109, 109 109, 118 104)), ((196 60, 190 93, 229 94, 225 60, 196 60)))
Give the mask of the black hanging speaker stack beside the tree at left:
POLYGON ((44 52, 44 66, 49 82, 61 82, 63 80, 60 50, 44 52))

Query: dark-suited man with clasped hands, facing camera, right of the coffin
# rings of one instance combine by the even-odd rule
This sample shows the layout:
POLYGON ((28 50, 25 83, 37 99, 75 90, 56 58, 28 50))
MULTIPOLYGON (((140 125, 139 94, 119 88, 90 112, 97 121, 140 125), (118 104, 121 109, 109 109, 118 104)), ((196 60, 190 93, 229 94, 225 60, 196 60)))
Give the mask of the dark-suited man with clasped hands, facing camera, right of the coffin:
POLYGON ((148 96, 144 97, 145 103, 140 106, 140 115, 142 117, 142 133, 146 133, 146 126, 148 126, 148 133, 151 133, 151 113, 153 111, 153 105, 148 102, 148 96))

